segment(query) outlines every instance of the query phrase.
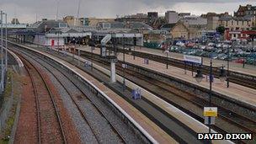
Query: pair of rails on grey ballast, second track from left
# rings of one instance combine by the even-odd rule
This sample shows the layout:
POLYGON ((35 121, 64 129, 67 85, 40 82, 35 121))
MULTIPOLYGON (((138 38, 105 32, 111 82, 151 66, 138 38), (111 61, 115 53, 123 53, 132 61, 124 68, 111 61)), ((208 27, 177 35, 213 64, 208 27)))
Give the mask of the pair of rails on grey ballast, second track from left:
MULTIPOLYGON (((15 51, 19 51, 19 50, 16 49, 15 51)), ((104 120, 106 120, 106 121, 108 122, 109 126, 110 126, 111 129, 115 132, 115 134, 116 134, 117 136, 119 136, 120 141, 121 141, 122 143, 128 143, 128 141, 125 140, 124 136, 122 136, 122 135, 120 134, 120 132, 117 130, 116 126, 113 125, 111 122, 109 122, 107 116, 99 109, 99 105, 94 104, 93 101, 92 101, 92 99, 90 99, 90 98, 87 96, 87 94, 82 91, 81 88, 77 87, 77 84, 72 81, 72 78, 67 76, 67 73, 62 72, 61 70, 57 69, 56 66, 54 66, 54 65, 53 65, 52 63, 50 63, 49 61, 45 61, 44 59, 40 58, 40 56, 38 56, 38 57, 35 58, 35 57, 30 56, 29 53, 25 53, 24 51, 19 51, 19 52, 22 52, 24 55, 29 56, 29 57, 32 58, 34 61, 37 61, 38 63, 40 63, 41 66, 45 67, 45 69, 46 69, 48 72, 50 72, 53 77, 56 78, 56 80, 58 81, 58 83, 61 84, 61 87, 65 89, 65 91, 68 93, 68 95, 69 95, 70 98, 72 99, 73 104, 76 105, 76 107, 77 107, 77 109, 78 109, 80 115, 82 115, 82 117, 83 117, 83 120, 85 120, 85 121, 87 122, 87 124, 89 125, 91 131, 93 131, 93 136, 95 136, 95 138, 96 138, 96 140, 97 140, 98 143, 101 143, 101 140, 100 140, 100 138, 99 138, 99 136, 98 136, 98 131, 95 131, 95 130, 94 130, 93 125, 92 125, 92 122, 91 122, 90 120, 88 120, 88 116, 84 113, 83 109, 81 108, 81 104, 78 104, 78 101, 77 101, 77 99, 76 99, 76 95, 72 94, 72 92, 70 91, 70 89, 67 88, 67 85, 65 85, 63 82, 61 82, 60 78, 56 76, 57 74, 54 73, 54 72, 52 71, 52 69, 55 69, 57 72, 59 72, 59 74, 61 74, 61 76, 67 78, 67 80, 68 80, 70 83, 72 83, 72 85, 73 85, 75 88, 77 88, 80 93, 83 93, 82 97, 83 97, 84 99, 86 99, 86 100, 89 100, 90 103, 93 104, 94 108, 97 109, 97 111, 99 112, 99 114, 104 117, 104 120), (47 63, 49 66, 51 66, 52 69, 51 69, 50 67, 46 67, 45 65, 43 65, 43 64, 41 63, 42 61, 44 61, 45 63, 47 63)), ((34 56, 35 56, 35 55, 34 55, 34 56)))

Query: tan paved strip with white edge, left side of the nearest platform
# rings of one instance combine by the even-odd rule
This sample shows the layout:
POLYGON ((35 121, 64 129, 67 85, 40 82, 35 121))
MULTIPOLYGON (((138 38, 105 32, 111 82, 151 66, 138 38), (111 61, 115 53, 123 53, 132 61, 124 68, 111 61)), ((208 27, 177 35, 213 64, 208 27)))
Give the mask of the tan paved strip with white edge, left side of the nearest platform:
MULTIPOLYGON (((31 51, 36 51, 32 48, 29 48, 28 46, 24 46, 24 45, 21 45, 21 46, 31 51)), ((147 134, 152 137, 153 143, 178 143, 173 139, 173 137, 169 136, 159 126, 157 126, 154 122, 152 122, 152 120, 149 120, 147 116, 143 115, 138 109, 136 109, 134 106, 129 104, 127 101, 125 101, 125 99, 122 99, 117 93, 112 91, 110 88, 106 87, 103 83, 100 83, 97 79, 88 75, 88 73, 83 72, 81 69, 55 56, 51 56, 42 51, 36 51, 36 52, 44 56, 50 57, 54 61, 58 61, 61 65, 77 73, 80 77, 85 79, 88 83, 91 83, 93 86, 95 86, 95 88, 98 88, 102 93, 104 93, 107 96, 107 99, 109 99, 110 103, 117 104, 118 107, 121 109, 120 111, 122 110, 125 111, 126 115, 129 115, 129 117, 132 120, 135 120, 136 124, 139 125, 142 130, 146 131, 147 134)))

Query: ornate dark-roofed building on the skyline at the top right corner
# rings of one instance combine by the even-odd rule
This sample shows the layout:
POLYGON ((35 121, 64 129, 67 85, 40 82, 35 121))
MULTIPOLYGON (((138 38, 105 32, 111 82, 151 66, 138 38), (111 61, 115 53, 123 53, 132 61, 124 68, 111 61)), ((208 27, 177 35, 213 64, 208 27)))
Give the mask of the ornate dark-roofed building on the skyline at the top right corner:
POLYGON ((240 5, 237 12, 234 12, 234 17, 244 17, 248 15, 256 16, 256 6, 248 4, 246 6, 240 5))

